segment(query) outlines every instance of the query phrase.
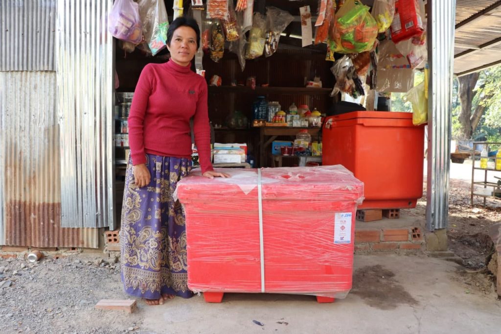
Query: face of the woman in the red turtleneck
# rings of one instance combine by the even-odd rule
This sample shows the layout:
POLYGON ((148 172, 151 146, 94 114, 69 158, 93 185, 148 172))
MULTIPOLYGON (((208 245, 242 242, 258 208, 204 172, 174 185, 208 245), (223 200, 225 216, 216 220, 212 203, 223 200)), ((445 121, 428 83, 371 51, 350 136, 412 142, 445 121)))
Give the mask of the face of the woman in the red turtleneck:
POLYGON ((196 33, 190 27, 181 26, 174 31, 167 49, 178 65, 188 66, 196 53, 196 33))

